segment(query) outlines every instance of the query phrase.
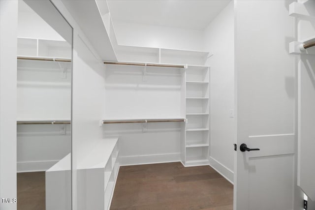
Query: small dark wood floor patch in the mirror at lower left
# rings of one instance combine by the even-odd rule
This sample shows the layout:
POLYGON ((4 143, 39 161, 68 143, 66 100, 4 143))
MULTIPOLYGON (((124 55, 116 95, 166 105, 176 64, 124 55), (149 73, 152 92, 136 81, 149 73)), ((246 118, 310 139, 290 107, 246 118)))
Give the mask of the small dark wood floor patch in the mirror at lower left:
POLYGON ((45 210, 45 172, 17 174, 17 209, 45 210))

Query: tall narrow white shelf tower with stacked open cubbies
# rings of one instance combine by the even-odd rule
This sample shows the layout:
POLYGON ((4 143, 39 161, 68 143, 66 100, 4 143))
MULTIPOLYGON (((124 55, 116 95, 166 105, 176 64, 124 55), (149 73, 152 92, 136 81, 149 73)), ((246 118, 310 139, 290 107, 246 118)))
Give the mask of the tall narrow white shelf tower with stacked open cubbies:
POLYGON ((185 166, 209 164, 209 75, 208 66, 186 70, 185 166))

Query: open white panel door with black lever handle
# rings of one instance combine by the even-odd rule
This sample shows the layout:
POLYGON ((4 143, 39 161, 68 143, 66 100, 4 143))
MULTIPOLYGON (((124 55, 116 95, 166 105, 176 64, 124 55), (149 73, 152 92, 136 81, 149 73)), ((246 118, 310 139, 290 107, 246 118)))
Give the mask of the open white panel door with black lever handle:
POLYGON ((234 210, 294 209, 296 89, 288 44, 295 33, 289 3, 235 2, 234 210), (259 150, 241 151, 241 144, 259 150))

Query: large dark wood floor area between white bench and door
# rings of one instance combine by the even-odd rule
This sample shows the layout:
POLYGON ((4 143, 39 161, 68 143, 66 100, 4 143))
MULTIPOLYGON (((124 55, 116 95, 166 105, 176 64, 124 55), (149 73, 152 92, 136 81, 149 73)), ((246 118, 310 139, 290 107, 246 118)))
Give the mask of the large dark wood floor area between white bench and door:
POLYGON ((233 210, 233 185, 210 166, 122 166, 111 210, 233 210))

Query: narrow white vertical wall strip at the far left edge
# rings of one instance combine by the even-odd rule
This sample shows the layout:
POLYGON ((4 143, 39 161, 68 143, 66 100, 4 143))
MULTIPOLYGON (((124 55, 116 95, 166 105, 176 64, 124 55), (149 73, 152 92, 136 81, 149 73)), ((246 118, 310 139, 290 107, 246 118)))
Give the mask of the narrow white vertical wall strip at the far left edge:
MULTIPOLYGON (((0 0, 0 198, 16 199, 16 54, 18 1, 0 0)), ((1 210, 16 203, 0 200, 1 210)))

